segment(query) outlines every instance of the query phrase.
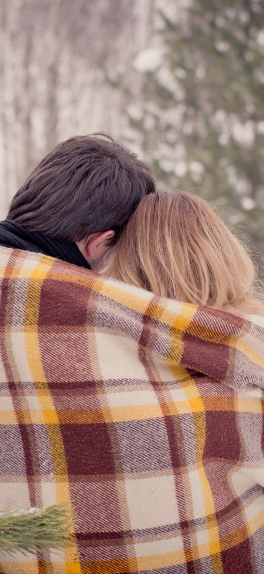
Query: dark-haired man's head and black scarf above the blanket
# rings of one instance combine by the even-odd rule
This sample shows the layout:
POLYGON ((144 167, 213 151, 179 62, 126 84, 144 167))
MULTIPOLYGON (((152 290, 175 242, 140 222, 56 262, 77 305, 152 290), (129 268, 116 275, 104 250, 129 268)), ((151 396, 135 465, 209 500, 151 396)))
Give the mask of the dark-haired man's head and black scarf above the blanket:
POLYGON ((30 174, 0 224, 0 245, 96 270, 145 193, 151 169, 106 134, 59 144, 30 174))

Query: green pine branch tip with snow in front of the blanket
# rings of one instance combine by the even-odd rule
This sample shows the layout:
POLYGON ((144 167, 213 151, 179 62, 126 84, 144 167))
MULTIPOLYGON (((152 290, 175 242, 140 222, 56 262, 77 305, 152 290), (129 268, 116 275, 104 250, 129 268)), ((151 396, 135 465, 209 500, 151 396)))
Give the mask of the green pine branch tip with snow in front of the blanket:
POLYGON ((15 552, 49 552, 65 546, 71 538, 72 516, 68 503, 0 512, 0 556, 15 552))

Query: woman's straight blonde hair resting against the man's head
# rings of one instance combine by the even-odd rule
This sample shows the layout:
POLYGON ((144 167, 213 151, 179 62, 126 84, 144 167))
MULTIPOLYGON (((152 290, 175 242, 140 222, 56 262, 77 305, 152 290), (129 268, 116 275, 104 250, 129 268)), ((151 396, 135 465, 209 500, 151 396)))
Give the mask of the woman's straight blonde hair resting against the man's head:
POLYGON ((108 274, 179 301, 264 315, 245 247, 214 208, 191 193, 143 197, 108 274))

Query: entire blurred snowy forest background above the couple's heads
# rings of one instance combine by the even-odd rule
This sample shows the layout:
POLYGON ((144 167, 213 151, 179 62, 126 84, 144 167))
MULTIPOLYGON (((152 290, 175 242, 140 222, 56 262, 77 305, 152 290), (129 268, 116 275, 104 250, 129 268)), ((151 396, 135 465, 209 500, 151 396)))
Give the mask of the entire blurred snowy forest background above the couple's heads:
POLYGON ((108 131, 160 189, 264 251, 263 0, 1 0, 0 216, 72 135, 108 131))

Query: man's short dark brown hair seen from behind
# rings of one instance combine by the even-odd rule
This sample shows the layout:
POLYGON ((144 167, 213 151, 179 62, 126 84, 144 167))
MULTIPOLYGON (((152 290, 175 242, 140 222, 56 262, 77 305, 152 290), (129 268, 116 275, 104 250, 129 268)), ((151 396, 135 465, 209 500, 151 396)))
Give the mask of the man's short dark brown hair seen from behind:
POLYGON ((152 171, 135 153, 107 134, 77 136, 44 157, 13 197, 9 217, 57 239, 110 229, 117 238, 151 192, 152 171))

